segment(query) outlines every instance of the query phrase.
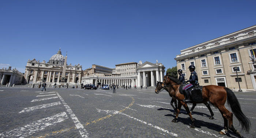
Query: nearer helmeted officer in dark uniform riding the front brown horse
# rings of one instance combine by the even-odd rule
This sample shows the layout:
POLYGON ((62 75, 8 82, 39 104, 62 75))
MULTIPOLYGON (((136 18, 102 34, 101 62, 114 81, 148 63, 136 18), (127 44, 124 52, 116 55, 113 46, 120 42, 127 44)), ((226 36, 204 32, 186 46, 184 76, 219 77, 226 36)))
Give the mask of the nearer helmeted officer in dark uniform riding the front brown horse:
POLYGON ((189 80, 186 81, 186 83, 187 82, 190 82, 190 83, 187 84, 183 88, 184 96, 185 96, 185 99, 183 100, 184 102, 191 102, 191 100, 189 98, 189 95, 188 95, 188 89, 193 87, 193 86, 196 86, 197 83, 198 83, 198 77, 197 77, 197 74, 195 72, 196 67, 194 65, 190 65, 188 68, 189 68, 189 71, 191 72, 191 75, 189 77, 189 80))

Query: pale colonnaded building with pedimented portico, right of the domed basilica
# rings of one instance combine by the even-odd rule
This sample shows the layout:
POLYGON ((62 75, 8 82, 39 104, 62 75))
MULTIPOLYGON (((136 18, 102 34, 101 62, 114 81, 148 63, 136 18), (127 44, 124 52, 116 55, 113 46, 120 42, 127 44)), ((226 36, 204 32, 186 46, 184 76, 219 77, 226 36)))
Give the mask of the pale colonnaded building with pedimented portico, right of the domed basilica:
POLYGON ((93 65, 82 77, 84 84, 116 84, 118 86, 156 86, 163 81, 165 67, 161 63, 129 62, 117 64, 116 68, 93 65), (93 70, 89 72, 89 70, 93 70), (99 83, 100 82, 100 83, 99 83))

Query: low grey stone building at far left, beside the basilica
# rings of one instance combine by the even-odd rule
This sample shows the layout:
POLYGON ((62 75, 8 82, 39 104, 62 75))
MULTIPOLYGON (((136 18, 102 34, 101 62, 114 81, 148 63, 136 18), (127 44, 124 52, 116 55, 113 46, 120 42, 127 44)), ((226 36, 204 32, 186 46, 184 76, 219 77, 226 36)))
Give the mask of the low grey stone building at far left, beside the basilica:
POLYGON ((0 82, 1 85, 12 86, 15 85, 21 85, 24 81, 24 74, 19 72, 16 68, 12 69, 10 66, 8 69, 0 69, 0 82))

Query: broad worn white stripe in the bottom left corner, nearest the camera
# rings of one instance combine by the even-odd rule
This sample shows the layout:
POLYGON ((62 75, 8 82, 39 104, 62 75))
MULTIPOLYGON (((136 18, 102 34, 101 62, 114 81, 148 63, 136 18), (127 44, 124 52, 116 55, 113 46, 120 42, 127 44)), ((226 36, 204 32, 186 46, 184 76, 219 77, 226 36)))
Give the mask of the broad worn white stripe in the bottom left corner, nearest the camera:
POLYGON ((45 129, 48 126, 56 125, 57 123, 60 123, 65 119, 68 119, 68 116, 65 112, 62 112, 60 114, 52 115, 50 117, 34 121, 24 126, 17 127, 14 130, 1 133, 0 137, 24 138, 45 129))

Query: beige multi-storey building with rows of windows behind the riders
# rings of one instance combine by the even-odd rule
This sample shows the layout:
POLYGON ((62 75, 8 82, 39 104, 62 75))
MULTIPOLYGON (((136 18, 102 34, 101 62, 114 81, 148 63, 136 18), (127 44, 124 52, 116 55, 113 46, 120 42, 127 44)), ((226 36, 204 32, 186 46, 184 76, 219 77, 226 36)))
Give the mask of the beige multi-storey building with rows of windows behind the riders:
POLYGON ((256 91, 256 25, 181 50, 174 59, 185 80, 195 65, 200 85, 256 91))

